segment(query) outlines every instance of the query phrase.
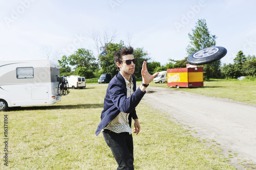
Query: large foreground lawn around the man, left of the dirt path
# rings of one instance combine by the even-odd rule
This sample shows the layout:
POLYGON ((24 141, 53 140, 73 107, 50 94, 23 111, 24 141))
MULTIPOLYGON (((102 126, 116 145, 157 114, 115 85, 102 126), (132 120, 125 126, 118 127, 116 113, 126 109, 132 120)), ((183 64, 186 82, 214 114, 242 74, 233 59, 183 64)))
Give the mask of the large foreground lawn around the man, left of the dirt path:
MULTIPOLYGON (((70 91, 51 106, 0 112, 2 125, 4 115, 9 117, 8 169, 117 168, 102 133, 95 136, 106 86, 88 85, 86 89, 70 91)), ((133 135, 135 169, 236 169, 227 158, 216 155, 143 100, 137 113, 141 132, 133 135)), ((3 158, 3 145, 0 153, 3 158)), ((2 161, 0 169, 5 168, 2 161)))

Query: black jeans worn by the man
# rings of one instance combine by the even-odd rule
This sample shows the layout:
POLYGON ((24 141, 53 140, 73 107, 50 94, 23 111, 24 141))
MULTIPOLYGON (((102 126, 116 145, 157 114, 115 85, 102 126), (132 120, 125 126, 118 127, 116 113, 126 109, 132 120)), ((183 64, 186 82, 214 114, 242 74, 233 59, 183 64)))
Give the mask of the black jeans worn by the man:
POLYGON ((115 133, 105 129, 103 137, 118 163, 117 169, 134 169, 132 134, 128 132, 115 133))

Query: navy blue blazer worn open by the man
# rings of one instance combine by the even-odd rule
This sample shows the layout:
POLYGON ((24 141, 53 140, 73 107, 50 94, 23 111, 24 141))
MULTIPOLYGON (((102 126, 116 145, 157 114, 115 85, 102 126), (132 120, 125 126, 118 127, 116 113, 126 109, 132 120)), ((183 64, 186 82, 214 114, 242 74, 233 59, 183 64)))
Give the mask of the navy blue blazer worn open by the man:
POLYGON ((95 131, 96 136, 99 135, 100 131, 105 128, 111 120, 120 113, 120 111, 130 113, 130 127, 132 124, 132 118, 138 118, 135 107, 140 103, 146 91, 143 92, 140 88, 136 90, 136 79, 134 75, 132 75, 132 77, 134 93, 129 98, 127 98, 126 83, 120 72, 118 72, 118 74, 110 81, 108 89, 106 89, 103 111, 101 112, 100 117, 101 121, 95 131))

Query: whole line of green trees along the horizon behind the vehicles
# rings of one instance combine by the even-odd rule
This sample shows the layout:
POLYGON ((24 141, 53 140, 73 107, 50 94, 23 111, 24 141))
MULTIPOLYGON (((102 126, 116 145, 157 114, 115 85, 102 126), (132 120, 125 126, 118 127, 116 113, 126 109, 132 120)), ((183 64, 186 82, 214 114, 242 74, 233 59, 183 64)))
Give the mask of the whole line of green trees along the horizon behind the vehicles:
MULTIPOLYGON (((98 33, 92 34, 92 38, 97 46, 97 59, 93 52, 86 48, 79 48, 70 56, 62 56, 61 60, 58 60, 60 76, 78 75, 84 76, 87 79, 99 78, 101 74, 111 74, 112 77, 115 76, 118 70, 114 63, 114 53, 124 46, 124 41, 121 40, 119 43, 113 43, 115 32, 113 32, 111 36, 106 34, 106 32, 104 35, 104 38, 101 38, 98 33), (102 41, 102 39, 104 40, 102 41)), ((165 65, 161 65, 160 62, 157 61, 152 61, 143 47, 135 48, 134 58, 137 59, 137 63, 134 75, 136 78, 141 78, 141 66, 143 61, 147 62, 147 69, 151 74, 169 68, 182 68, 186 67, 186 64, 188 64, 188 56, 203 48, 216 45, 217 36, 210 34, 205 19, 198 19, 195 29, 192 29, 191 34, 188 33, 188 37, 190 41, 189 45, 186 47, 187 56, 183 60, 169 59, 169 63, 165 65)), ((233 64, 224 64, 223 66, 221 66, 221 60, 200 65, 204 70, 204 80, 209 80, 210 78, 238 78, 240 76, 255 77, 256 59, 254 55, 248 55, 246 57, 242 51, 239 51, 237 57, 233 60, 233 64)))

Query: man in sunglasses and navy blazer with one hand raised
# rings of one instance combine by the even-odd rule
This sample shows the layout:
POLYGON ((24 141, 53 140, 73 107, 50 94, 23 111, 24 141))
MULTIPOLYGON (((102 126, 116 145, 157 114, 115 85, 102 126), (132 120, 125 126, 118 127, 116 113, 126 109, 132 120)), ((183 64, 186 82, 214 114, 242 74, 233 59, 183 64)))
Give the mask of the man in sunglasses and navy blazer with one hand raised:
POLYGON ((135 107, 146 93, 148 84, 159 73, 150 75, 144 61, 141 70, 142 83, 136 90, 136 80, 133 75, 136 59, 133 56, 133 48, 123 46, 115 53, 115 63, 119 72, 106 90, 101 122, 95 133, 98 136, 103 130, 104 140, 118 163, 117 169, 134 169, 132 132, 136 134, 140 132, 135 107), (133 131, 132 118, 135 127, 133 131))

